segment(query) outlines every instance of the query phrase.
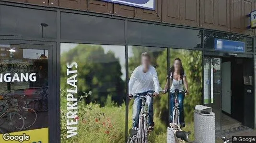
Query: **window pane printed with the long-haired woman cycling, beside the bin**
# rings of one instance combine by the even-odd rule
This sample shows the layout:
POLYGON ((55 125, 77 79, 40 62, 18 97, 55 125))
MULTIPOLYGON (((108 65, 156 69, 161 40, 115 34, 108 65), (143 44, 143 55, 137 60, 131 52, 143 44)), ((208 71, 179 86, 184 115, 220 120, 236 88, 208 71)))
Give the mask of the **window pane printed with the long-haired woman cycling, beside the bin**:
MULTIPOLYGON (((171 121, 174 118, 175 89, 178 89, 179 121, 183 130, 189 131, 194 128, 195 106, 202 103, 202 51, 170 49, 170 80, 171 121)), ((193 135, 189 137, 194 138, 193 135)))

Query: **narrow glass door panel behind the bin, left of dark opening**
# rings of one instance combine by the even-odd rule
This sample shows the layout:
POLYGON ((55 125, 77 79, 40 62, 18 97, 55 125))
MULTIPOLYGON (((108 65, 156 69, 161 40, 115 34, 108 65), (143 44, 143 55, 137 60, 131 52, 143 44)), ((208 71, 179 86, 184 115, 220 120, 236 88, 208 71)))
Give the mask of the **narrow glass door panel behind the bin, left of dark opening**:
POLYGON ((215 113, 215 130, 221 130, 221 58, 204 58, 204 104, 215 113))

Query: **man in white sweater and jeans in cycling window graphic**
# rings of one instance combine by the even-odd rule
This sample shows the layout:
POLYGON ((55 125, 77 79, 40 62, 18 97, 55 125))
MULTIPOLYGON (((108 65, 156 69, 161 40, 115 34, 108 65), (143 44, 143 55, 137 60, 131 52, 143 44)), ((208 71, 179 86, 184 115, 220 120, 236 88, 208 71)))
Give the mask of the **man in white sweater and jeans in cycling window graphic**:
MULTIPOLYGON (((141 65, 138 66, 131 74, 129 81, 129 97, 133 94, 139 94, 140 96, 147 95, 148 92, 153 93, 154 96, 158 96, 162 88, 159 85, 157 72, 153 66, 151 66, 151 57, 149 53, 144 52, 141 54, 141 65)), ((148 104, 148 125, 149 131, 153 131, 153 97, 147 96, 146 102, 148 104)), ((139 116, 141 110, 142 100, 140 97, 135 97, 133 103, 133 127, 139 126, 139 116)))

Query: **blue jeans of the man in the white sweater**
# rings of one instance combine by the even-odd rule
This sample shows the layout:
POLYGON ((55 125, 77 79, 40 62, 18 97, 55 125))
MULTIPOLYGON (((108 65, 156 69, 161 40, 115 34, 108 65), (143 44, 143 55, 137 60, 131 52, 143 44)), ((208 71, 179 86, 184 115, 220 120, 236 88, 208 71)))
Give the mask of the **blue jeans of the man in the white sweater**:
MULTIPOLYGON (((148 92, 153 93, 153 91, 148 91, 148 92)), ((140 95, 140 96, 143 95, 144 96, 144 95, 147 95, 148 92, 137 93, 137 95, 140 95)), ((146 102, 148 104, 148 112, 149 112, 148 125, 154 126, 154 122, 153 122, 153 116, 154 116, 153 97, 147 96, 146 97, 146 102)), ((136 96, 135 99, 134 99, 134 103, 133 103, 133 118, 132 118, 133 127, 137 127, 137 128, 139 127, 141 105, 142 105, 142 98, 136 96)))

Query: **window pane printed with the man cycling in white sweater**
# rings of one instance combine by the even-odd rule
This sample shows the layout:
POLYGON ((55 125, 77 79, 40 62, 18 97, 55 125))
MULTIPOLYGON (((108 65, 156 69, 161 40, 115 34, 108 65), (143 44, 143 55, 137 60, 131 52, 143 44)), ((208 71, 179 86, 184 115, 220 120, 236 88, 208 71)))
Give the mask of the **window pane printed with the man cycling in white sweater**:
MULTIPOLYGON (((154 127, 148 139, 151 143, 166 142, 169 124, 168 94, 161 91, 164 89, 168 72, 167 48, 128 46, 128 69, 129 94, 159 93, 157 96, 146 97, 149 109, 148 126, 154 127), (150 68, 145 72, 147 67, 150 68)), ((142 99, 138 96, 129 101, 128 129, 138 127, 142 106, 142 99)))

